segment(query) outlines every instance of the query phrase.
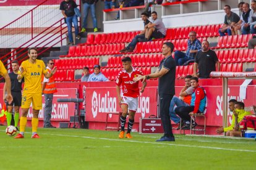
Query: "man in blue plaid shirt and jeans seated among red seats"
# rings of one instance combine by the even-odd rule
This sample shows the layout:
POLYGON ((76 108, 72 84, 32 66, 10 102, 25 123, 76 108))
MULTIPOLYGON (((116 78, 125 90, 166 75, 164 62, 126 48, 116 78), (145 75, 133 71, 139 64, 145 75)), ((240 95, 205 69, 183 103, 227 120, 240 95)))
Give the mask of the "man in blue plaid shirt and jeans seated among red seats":
POLYGON ((186 53, 181 51, 174 52, 174 59, 176 65, 183 65, 189 60, 194 60, 195 55, 201 49, 201 42, 197 39, 197 33, 195 31, 190 31, 189 41, 187 41, 187 51, 186 53))

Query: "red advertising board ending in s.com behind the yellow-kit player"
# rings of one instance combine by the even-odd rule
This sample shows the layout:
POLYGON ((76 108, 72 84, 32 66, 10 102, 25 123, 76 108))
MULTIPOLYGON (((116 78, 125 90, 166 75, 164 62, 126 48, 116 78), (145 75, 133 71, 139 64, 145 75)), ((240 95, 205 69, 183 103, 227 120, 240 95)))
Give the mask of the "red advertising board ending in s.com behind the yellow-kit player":
MULTIPOLYGON (((0 90, 0 94, 2 94, 2 89, 0 90)), ((56 92, 53 96, 53 111, 51 113, 51 121, 69 121, 69 116, 74 115, 75 111, 75 103, 60 103, 57 102, 57 99, 68 99, 68 98, 77 98, 77 89, 58 89, 58 92, 56 92)), ((1 109, 2 109, 2 97, 0 97, 1 102, 1 109)), ((42 103, 43 108, 40 110, 38 118, 39 120, 43 120, 43 111, 45 107, 45 97, 42 95, 42 103)), ((21 108, 20 108, 21 113, 21 108)), ((20 114, 21 115, 21 114, 20 114)), ((30 109, 28 111, 28 120, 32 119, 32 105, 30 106, 30 109)))

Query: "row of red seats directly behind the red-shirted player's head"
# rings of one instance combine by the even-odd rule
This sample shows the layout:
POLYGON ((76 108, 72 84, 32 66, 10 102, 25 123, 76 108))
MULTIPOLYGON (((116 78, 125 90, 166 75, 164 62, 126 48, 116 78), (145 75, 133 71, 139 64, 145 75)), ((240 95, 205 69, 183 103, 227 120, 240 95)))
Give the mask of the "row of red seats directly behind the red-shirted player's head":
MULTIPOLYGON (((157 67, 164 58, 161 54, 141 54, 130 55, 132 59, 132 66, 134 67, 157 67)), ((120 68, 122 67, 123 57, 109 57, 106 68, 120 68)))

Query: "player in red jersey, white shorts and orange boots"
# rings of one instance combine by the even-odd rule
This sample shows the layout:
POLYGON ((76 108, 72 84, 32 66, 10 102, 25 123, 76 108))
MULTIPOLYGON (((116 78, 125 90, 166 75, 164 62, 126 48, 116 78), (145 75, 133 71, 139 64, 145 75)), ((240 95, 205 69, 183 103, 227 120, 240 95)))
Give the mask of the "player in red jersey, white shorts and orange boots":
POLYGON ((129 122, 126 133, 126 138, 132 138, 130 131, 134 125, 134 116, 138 108, 138 97, 140 92, 143 92, 147 83, 144 81, 141 91, 139 90, 139 81, 133 79, 138 75, 143 75, 142 71, 132 67, 132 59, 124 57, 122 59, 124 70, 120 71, 116 79, 116 92, 119 105, 122 108, 121 115, 121 132, 119 138, 124 138, 124 125, 126 124, 126 116, 129 110, 129 122), (121 86, 121 91, 120 91, 121 86))

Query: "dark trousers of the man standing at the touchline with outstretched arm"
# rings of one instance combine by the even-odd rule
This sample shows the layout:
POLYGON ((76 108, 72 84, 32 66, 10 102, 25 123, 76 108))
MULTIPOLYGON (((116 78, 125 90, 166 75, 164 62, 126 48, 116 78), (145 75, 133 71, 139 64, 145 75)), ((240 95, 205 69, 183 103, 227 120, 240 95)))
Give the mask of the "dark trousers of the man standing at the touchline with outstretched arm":
POLYGON ((171 128, 171 121, 169 116, 169 107, 173 95, 171 94, 159 94, 160 97, 160 116, 164 129, 164 136, 173 136, 173 130, 171 128))

